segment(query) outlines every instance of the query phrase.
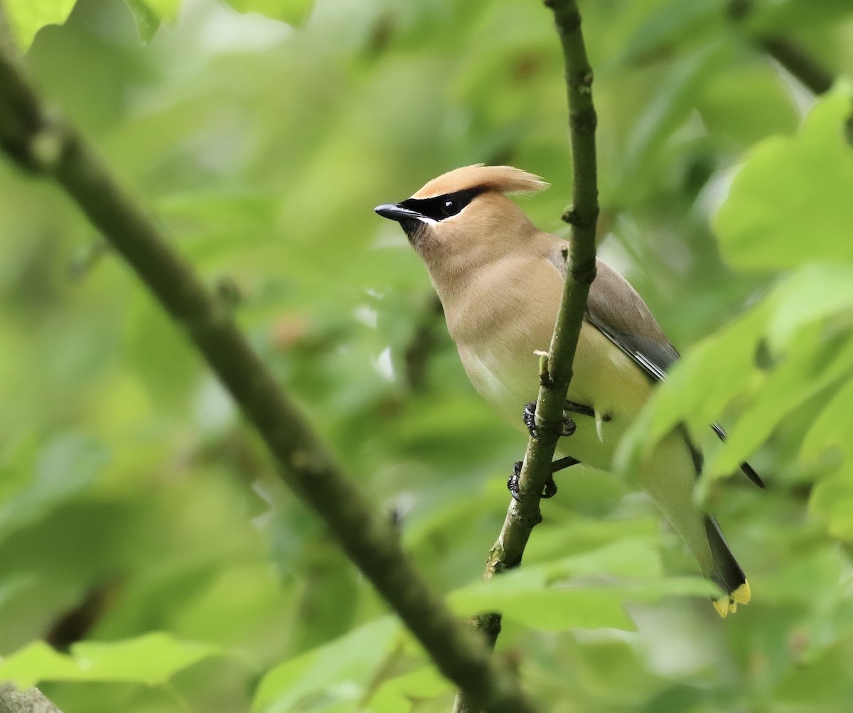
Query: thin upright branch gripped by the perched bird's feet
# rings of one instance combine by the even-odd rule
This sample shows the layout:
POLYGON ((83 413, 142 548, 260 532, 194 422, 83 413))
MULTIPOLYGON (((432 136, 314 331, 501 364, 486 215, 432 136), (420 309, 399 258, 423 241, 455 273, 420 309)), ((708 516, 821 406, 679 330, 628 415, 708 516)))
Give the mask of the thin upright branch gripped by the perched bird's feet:
MULTIPOLYGON (((586 310, 589 286, 595 280, 595 225, 598 221, 598 187, 595 165, 595 107, 592 102, 592 69, 581 32, 581 16, 576 0, 544 0, 554 12, 566 65, 566 95, 569 105, 569 140, 572 147, 572 208, 563 219, 572 225, 567 255, 566 285, 548 356, 540 364, 537 398, 539 439, 527 443, 520 474, 520 499, 511 501, 497 542, 491 548, 485 579, 521 564, 533 528, 542 521, 539 501, 551 475, 551 461, 559 440, 560 420, 566 393, 572 381, 572 363, 577 338, 586 310)), ((501 631, 501 615, 496 612, 474 617, 490 646, 501 631)), ((461 692, 454 713, 473 713, 476 703, 461 692)))

